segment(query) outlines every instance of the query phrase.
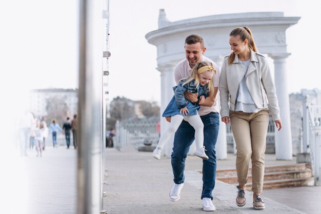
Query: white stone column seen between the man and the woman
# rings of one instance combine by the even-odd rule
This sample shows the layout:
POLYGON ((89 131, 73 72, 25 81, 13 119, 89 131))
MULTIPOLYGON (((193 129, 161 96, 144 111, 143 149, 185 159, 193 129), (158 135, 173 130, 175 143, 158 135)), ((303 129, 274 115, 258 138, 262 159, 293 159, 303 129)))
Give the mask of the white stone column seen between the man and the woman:
MULTIPOLYGON (((217 56, 213 59, 213 61, 218 65, 219 69, 222 67, 223 56, 217 56)), ((220 109, 219 102, 219 91, 217 92, 217 102, 220 109)), ((225 160, 227 159, 227 137, 226 137, 226 124, 222 122, 220 114, 219 114, 219 131, 217 142, 215 146, 216 150, 216 159, 217 160, 225 160)))

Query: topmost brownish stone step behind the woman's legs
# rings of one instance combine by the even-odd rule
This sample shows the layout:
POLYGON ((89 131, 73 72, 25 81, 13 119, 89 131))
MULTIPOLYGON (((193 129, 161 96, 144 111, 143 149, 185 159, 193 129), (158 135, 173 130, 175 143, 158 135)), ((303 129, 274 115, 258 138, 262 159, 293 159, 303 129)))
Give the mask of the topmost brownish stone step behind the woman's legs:
MULTIPOLYGON (((299 171, 305 170, 306 168, 311 169, 311 165, 309 164, 292 164, 292 165, 280 165, 280 166, 268 166, 265 167, 265 173, 269 172, 282 172, 282 171, 299 171)), ((252 172, 252 168, 249 168, 248 174, 250 175, 252 172)), ((216 170, 216 177, 236 177, 236 169, 219 169, 216 170)))

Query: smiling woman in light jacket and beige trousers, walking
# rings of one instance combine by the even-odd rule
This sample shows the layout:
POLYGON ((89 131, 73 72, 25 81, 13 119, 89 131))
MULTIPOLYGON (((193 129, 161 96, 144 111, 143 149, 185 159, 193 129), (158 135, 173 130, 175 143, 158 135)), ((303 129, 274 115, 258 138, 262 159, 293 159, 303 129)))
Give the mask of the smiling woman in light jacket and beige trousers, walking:
POLYGON ((219 78, 220 114, 224 123, 231 122, 236 143, 238 194, 236 204, 246 204, 245 186, 252 160, 253 207, 264 209, 264 157, 269 111, 278 130, 282 128, 275 86, 266 58, 257 52, 248 27, 230 33, 231 50, 222 65, 219 78))

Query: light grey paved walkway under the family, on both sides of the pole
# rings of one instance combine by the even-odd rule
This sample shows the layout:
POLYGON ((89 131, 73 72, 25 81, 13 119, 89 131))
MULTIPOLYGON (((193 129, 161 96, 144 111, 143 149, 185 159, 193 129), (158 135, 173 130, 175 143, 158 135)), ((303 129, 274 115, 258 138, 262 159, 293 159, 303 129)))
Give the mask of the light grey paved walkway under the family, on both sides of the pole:
MULTIPOLYGON (((204 213, 200 192, 202 189, 202 160, 189 156, 186 166, 186 181, 182 197, 177 202, 168 199, 173 185, 170 159, 159 161, 151 152, 137 152, 131 147, 122 151, 106 149, 106 168, 108 177, 104 198, 108 214, 141 213, 204 213)), ((218 161, 218 168, 233 168, 235 156, 218 161)), ((36 157, 36 152, 29 152, 28 157, 21 158, 28 174, 18 185, 28 186, 28 194, 18 194, 17 207, 25 208, 25 214, 75 214, 76 213, 76 150, 59 146, 48 146, 43 157, 36 157), (27 201, 26 207, 21 206, 27 201)), ((293 161, 292 161, 293 162, 293 161)), ((291 162, 289 162, 291 163, 291 162)), ((288 164, 274 161, 274 155, 267 155, 267 165, 288 164)), ((25 176, 25 175, 24 175, 25 176)), ((21 188, 21 187, 19 187, 21 188)), ((234 202, 236 188, 217 181, 213 191, 213 213, 257 213, 247 203, 237 207, 234 202)), ((248 192, 248 201, 252 194, 248 192)), ((266 190, 263 199, 267 208, 260 213, 320 213, 321 187, 296 187, 266 190), (274 199, 270 200, 270 199, 274 199), (277 202, 276 202, 277 201, 277 202)), ((11 214, 10 212, 6 212, 11 214)))

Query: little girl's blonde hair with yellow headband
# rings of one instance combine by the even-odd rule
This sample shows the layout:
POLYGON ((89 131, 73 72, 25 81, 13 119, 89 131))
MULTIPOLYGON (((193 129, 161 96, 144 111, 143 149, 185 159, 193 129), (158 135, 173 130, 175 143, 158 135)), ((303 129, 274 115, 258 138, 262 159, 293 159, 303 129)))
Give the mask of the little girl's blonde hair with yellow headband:
MULTIPOLYGON (((209 63, 209 62, 199 62, 199 63, 197 63, 197 64, 194 66, 194 68, 193 68, 192 71, 191 71, 191 75, 190 75, 188 78, 186 78, 187 81, 183 84, 183 86, 184 86, 185 84, 187 84, 187 83, 195 80, 195 86, 197 87, 197 86, 199 85, 199 79, 198 79, 198 75, 197 75, 197 74, 203 73, 203 72, 205 72, 205 71, 208 71, 208 72, 210 72, 210 73, 214 72, 214 73, 216 74, 216 70, 215 70, 215 68, 213 67, 212 63, 209 63), (208 69, 205 69, 205 70, 200 69, 200 68, 202 68, 202 67, 204 67, 204 66, 209 66, 209 68, 208 68, 208 69), (197 72, 197 71, 198 71, 198 72, 197 72)), ((184 79, 182 79, 182 80, 184 80, 184 79)), ((209 81, 207 85, 208 85, 208 89, 209 89, 208 95, 211 96, 211 95, 213 95, 213 93, 214 93, 213 81, 209 81)))

